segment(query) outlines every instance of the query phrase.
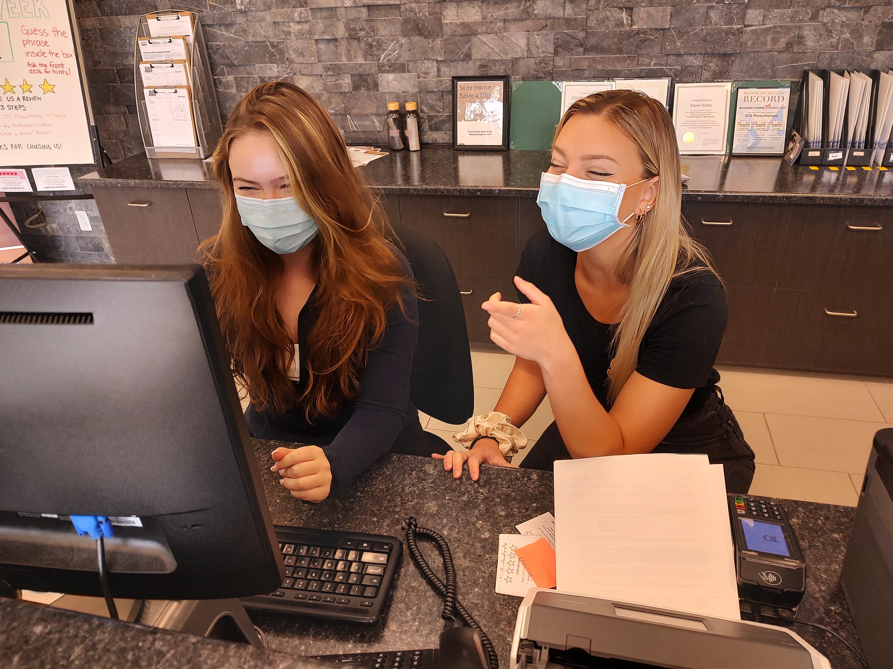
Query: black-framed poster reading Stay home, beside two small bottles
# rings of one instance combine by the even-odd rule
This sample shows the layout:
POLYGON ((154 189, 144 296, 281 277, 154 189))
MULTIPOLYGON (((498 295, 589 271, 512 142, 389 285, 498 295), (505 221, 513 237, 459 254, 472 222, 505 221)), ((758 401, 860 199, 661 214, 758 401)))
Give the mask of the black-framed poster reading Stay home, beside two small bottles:
POLYGON ((453 149, 508 149, 508 77, 453 78, 453 149))

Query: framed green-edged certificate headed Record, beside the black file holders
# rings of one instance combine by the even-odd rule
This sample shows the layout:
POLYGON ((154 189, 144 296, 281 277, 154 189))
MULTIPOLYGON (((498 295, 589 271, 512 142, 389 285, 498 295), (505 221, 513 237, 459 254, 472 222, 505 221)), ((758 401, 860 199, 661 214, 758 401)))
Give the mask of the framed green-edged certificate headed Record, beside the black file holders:
POLYGON ((784 153, 790 88, 739 88, 731 153, 784 153))

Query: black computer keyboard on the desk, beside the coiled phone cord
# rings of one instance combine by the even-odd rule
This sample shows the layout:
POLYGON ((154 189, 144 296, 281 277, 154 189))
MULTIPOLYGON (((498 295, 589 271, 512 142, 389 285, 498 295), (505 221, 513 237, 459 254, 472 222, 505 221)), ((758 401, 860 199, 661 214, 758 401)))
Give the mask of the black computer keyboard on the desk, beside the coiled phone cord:
POLYGON ((247 608, 355 623, 379 620, 403 552, 399 539, 282 525, 275 529, 285 581, 269 595, 243 598, 247 608))

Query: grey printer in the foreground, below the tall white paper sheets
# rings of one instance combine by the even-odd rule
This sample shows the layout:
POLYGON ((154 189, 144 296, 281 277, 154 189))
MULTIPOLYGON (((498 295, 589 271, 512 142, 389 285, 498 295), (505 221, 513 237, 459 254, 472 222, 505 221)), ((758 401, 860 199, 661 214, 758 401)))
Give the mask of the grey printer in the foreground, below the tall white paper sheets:
POLYGON ((518 611, 511 669, 830 669, 784 627, 533 589, 518 611))

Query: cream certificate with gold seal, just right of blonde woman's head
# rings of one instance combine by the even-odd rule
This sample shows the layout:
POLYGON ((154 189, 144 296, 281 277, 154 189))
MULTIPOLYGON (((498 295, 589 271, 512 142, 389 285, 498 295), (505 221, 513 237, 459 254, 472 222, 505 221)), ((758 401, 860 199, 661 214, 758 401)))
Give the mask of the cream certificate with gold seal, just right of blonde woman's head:
POLYGON ((676 84, 672 122, 679 153, 726 153, 731 82, 676 84))

